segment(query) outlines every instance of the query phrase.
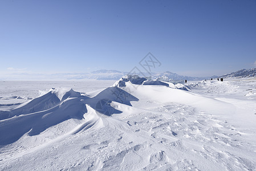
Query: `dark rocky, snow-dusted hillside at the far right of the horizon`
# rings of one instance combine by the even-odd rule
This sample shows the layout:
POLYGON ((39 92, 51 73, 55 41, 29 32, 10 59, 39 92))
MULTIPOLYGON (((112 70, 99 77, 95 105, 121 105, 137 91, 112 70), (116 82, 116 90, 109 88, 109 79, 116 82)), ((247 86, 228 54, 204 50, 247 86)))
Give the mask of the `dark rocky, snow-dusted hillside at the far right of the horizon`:
POLYGON ((251 78, 256 77, 256 68, 243 69, 221 76, 222 78, 251 78))

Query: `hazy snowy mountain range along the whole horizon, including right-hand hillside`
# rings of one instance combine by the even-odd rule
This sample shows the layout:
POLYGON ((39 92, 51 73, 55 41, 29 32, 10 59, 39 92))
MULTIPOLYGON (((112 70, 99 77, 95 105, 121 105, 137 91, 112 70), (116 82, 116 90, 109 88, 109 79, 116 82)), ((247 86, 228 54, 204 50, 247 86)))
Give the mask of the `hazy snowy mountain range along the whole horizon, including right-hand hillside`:
MULTIPOLYGON (((0 76, 0 80, 119 80, 122 76, 128 75, 129 72, 122 72, 117 70, 97 70, 92 72, 79 72, 79 73, 58 73, 58 74, 29 74, 29 73, 13 73, 9 75, 0 76)), ((176 73, 166 71, 162 73, 141 73, 139 76, 147 76, 152 79, 157 79, 165 82, 179 82, 182 80, 197 81, 207 80, 211 78, 250 78, 256 77, 256 68, 243 69, 231 74, 223 76, 210 76, 210 77, 192 77, 183 76, 176 73)))

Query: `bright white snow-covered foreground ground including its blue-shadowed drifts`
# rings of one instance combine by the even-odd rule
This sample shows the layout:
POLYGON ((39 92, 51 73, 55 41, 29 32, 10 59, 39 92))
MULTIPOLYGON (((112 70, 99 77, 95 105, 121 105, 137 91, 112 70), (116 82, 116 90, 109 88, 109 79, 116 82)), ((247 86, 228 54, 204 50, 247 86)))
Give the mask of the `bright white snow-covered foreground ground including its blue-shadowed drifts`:
POLYGON ((52 88, 0 114, 0 169, 255 170, 255 83, 52 88))

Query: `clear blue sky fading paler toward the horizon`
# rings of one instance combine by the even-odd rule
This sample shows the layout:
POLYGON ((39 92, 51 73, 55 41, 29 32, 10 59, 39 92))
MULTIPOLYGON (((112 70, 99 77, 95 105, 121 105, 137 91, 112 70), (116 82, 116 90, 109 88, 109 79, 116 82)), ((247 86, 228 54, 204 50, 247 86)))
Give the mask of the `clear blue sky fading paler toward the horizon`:
POLYGON ((256 67, 256 0, 0 1, 0 75, 256 67))

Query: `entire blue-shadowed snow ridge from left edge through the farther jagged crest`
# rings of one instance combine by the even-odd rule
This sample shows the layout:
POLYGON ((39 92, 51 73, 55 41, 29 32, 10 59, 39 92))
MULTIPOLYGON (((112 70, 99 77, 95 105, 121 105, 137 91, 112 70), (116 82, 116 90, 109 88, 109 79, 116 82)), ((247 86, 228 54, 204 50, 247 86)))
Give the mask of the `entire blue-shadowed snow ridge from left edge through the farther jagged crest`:
MULTIPOLYGON (((11 111, 0 111, 0 145, 14 143, 23 135, 39 135, 48 128, 70 119, 81 123, 81 120, 86 120, 88 117, 85 115, 88 107, 91 111, 105 116, 122 113, 123 110, 128 109, 125 106, 132 106, 131 101, 139 101, 122 87, 132 89, 135 85, 187 90, 183 84, 174 85, 136 75, 125 76, 112 87, 93 92, 94 96, 91 96, 91 93, 80 93, 73 89, 51 88, 46 94, 23 103, 11 111)), ((91 121, 90 127, 96 122, 91 121)), ((84 125, 84 128, 86 127, 88 123, 87 126, 84 125)))

